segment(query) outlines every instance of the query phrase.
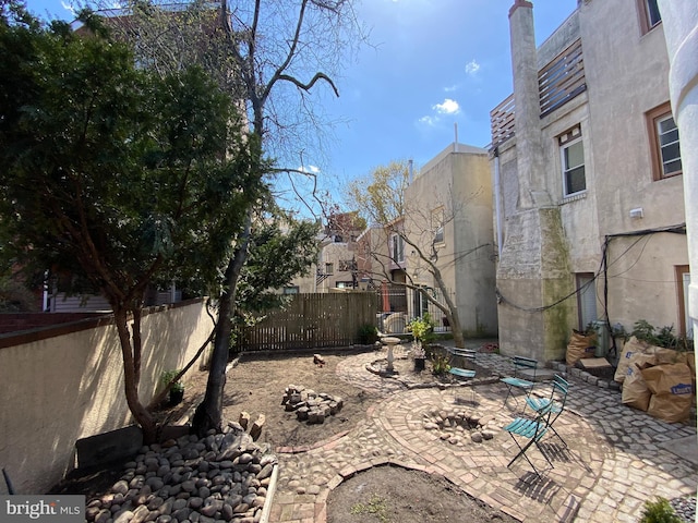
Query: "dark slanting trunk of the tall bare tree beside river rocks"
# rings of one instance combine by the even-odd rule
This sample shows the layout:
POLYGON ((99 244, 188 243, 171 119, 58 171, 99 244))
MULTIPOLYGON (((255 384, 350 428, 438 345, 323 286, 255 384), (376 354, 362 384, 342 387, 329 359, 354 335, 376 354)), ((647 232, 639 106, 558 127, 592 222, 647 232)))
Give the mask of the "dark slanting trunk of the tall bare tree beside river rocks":
POLYGON ((240 271, 248 258, 250 229, 252 227, 252 208, 248 211, 244 231, 241 234, 240 246, 226 268, 226 289, 220 295, 218 308, 218 324, 214 340, 214 352, 210 356, 206 394, 196 408, 192 421, 193 430, 204 437, 210 429, 222 429, 222 394, 226 387, 226 366, 230 351, 230 336, 232 332, 232 315, 236 309, 236 293, 240 271))

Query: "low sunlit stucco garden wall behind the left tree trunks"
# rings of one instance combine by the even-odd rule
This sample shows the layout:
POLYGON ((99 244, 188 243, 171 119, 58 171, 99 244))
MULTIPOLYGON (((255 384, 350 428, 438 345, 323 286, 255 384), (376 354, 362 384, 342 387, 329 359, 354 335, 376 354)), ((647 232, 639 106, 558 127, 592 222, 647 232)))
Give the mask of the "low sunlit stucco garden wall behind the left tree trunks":
MULTIPOLYGON (((19 338, 24 342, 10 346, 3 339, 0 466, 19 494, 43 494, 56 484, 73 467, 77 439, 132 423, 116 328, 110 321, 96 324, 74 326, 72 332, 69 326, 58 327, 52 336, 50 330, 24 333, 19 338)), ((202 301, 158 307, 143 318, 144 403, 153 397, 160 373, 181 368, 210 328, 202 301)), ((4 482, 0 494, 7 494, 4 482)))

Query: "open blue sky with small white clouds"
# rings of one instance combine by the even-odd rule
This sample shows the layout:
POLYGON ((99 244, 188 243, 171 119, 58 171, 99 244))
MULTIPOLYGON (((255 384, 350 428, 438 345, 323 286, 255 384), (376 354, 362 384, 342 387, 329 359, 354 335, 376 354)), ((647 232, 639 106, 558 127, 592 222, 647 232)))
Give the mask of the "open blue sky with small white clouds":
MULTIPOLYGON (((68 0, 28 0, 39 15, 70 19, 68 0)), ((335 188, 392 160, 420 167, 454 141, 490 143, 489 112, 512 88, 508 11, 513 0, 363 0, 361 19, 375 48, 364 48, 337 80, 339 98, 321 97, 335 139, 308 151, 306 169, 335 188)), ((538 0, 540 44, 577 0, 538 0)))

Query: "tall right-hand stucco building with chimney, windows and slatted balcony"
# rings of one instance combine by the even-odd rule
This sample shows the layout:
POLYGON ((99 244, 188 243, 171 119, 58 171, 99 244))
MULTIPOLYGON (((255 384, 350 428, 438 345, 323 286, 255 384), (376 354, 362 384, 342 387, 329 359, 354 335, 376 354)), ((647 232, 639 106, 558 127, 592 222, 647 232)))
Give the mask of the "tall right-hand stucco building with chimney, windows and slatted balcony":
POLYGON ((491 113, 505 354, 559 358, 571 330, 597 320, 690 330, 679 136, 654 8, 579 2, 538 49, 532 4, 509 12, 514 95, 491 113))

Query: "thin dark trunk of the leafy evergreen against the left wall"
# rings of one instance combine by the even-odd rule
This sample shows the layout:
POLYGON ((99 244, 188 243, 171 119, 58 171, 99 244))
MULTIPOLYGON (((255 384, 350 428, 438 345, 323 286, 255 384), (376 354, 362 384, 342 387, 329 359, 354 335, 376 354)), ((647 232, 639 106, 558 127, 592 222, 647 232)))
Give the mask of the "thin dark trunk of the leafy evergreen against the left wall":
POLYGON ((151 412, 141 403, 139 399, 139 379, 141 374, 140 361, 133 356, 133 346, 129 337, 128 311, 115 308, 115 323, 121 342, 121 354, 123 356, 123 387, 127 394, 129 410, 136 423, 143 430, 143 442, 154 443, 157 439, 157 424, 151 412))

